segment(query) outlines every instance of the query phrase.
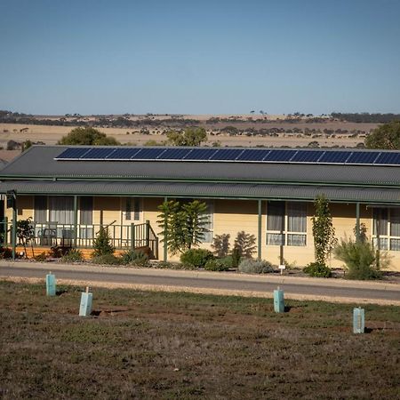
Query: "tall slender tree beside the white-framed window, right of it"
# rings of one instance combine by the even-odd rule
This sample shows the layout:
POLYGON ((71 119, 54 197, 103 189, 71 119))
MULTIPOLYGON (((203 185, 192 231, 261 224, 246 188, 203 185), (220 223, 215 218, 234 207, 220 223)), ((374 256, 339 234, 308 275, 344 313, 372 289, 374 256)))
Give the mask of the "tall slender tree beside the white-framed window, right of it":
POLYGON ((311 218, 313 224, 316 263, 326 267, 332 248, 337 243, 329 202, 324 195, 317 196, 314 202, 316 213, 311 218))

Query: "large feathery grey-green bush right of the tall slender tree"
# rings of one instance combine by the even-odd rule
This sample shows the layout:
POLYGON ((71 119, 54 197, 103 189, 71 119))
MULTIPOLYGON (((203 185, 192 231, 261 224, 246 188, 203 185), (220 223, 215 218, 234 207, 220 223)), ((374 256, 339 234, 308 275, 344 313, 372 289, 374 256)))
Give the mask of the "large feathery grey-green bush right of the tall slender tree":
POLYGON ((380 278, 380 268, 388 267, 388 256, 385 252, 377 252, 372 244, 366 241, 341 240, 334 249, 334 255, 345 263, 348 279, 380 278))

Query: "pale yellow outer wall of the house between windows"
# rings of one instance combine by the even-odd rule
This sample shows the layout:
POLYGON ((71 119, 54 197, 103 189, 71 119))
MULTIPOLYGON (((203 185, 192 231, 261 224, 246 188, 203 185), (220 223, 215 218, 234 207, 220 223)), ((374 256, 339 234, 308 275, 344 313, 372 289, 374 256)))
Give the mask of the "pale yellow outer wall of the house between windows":
MULTIPOLYGON (((164 198, 145 198, 142 203, 142 221, 149 220, 151 227, 160 236, 160 228, 157 225, 157 216, 159 214, 157 207, 162 204, 164 198)), ((221 200, 216 199, 213 202, 213 235, 230 235, 231 248, 233 247, 237 232, 244 230, 245 233, 258 236, 258 202, 250 200, 221 200)), ((18 197, 18 219, 34 218, 33 196, 18 197)), ((353 229, 356 225, 356 204, 330 204, 332 212, 333 226, 335 228, 338 240, 345 237, 354 237, 353 229)), ((122 221, 122 211, 124 210, 124 201, 120 197, 99 196, 93 199, 93 224, 102 223, 105 225, 116 221, 120 225, 122 221)), ((279 264, 280 247, 266 244, 266 225, 267 225, 267 201, 262 202, 262 220, 261 220, 261 257, 275 265, 279 264)), ((312 235, 311 217, 314 214, 314 206, 308 203, 307 219, 307 246, 284 246, 284 259, 289 263, 295 263, 298 267, 303 267, 308 262, 314 260, 314 243, 312 235)), ((12 220, 12 210, 7 209, 5 215, 12 220)), ((372 236, 372 209, 367 209, 365 205, 360 207, 360 222, 367 228, 367 236, 372 236)), ((111 225, 112 227, 112 225, 111 225)), ((120 237, 119 229, 113 231, 116 237, 120 237)), ((258 243, 258 240, 256 240, 258 243)), ((163 259, 164 244, 159 244, 159 258, 163 259)), ((203 244, 203 248, 211 249, 211 244, 203 244)), ((391 256, 392 266, 390 269, 400 271, 400 252, 388 252, 391 256)), ((254 254, 257 256, 257 253, 254 254)), ((169 260, 179 260, 179 256, 169 255, 169 260)), ((333 257, 330 260, 332 268, 340 268, 342 263, 333 257)))

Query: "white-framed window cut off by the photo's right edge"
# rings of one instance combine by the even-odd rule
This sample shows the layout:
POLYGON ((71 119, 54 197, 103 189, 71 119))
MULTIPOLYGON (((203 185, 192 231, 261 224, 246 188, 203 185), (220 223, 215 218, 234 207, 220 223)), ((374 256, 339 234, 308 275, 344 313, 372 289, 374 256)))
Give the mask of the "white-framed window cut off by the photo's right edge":
POLYGON ((380 250, 400 251, 400 208, 374 208, 372 243, 380 250))

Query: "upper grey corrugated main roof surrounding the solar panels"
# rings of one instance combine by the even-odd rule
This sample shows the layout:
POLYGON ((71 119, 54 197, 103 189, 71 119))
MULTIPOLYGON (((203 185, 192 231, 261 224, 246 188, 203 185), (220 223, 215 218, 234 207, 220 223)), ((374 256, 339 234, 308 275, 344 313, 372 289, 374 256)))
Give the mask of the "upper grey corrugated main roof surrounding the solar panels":
POLYGON ((321 164, 248 164, 197 162, 56 161, 66 147, 30 148, 0 171, 13 177, 73 179, 227 180, 285 183, 353 183, 400 186, 400 167, 321 164))

